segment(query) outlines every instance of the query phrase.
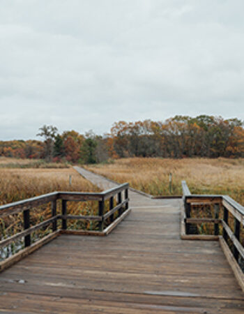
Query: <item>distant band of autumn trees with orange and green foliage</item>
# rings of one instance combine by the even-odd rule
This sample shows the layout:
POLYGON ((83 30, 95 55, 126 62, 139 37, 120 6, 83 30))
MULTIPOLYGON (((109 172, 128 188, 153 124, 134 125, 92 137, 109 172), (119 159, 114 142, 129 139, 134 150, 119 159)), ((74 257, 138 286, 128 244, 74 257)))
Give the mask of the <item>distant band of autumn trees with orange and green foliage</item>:
POLYGON ((166 121, 115 122, 110 133, 82 135, 75 130, 59 134, 43 126, 43 140, 0 142, 0 156, 42 158, 70 163, 101 163, 124 157, 244 157, 244 128, 239 119, 200 115, 176 116, 166 121))

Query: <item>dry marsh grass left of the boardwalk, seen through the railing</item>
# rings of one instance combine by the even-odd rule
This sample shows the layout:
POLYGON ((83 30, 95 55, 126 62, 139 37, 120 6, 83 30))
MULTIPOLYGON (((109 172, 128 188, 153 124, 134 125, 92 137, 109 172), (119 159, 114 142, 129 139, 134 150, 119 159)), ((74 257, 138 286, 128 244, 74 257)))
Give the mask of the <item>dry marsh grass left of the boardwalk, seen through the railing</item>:
MULTIPOLYGON (((19 162, 19 160, 17 160, 19 162)), ((5 160, 5 164, 9 165, 9 160, 5 160)), ((22 160, 24 163, 24 160, 22 160)), ((3 160, 1 160, 4 166, 3 160)), ((50 193, 52 191, 98 191, 98 187, 93 186, 91 182, 84 179, 72 167, 66 168, 50 168, 48 165, 45 169, 17 168, 16 163, 13 169, 9 167, 0 168, 0 205, 8 204, 18 200, 23 200, 29 197, 50 193), (70 185, 71 176, 71 185, 70 185)), ((68 214, 86 215, 95 214, 98 206, 94 206, 93 202, 68 202, 68 214)), ((61 201, 57 202, 57 213, 61 214, 61 201)), ((31 225, 36 225, 52 216, 51 203, 43 204, 33 208, 30 211, 31 225)), ((60 223, 59 226, 60 227, 60 223)), ((96 224, 89 221, 68 220, 69 229, 89 229, 96 228, 96 224)), ((23 230, 23 214, 13 214, 0 218, 0 239, 10 237, 17 232, 23 230)), ((44 227, 43 230, 38 230, 31 234, 32 241, 38 241, 45 235, 52 232, 52 225, 44 227)), ((9 257, 13 253, 20 251, 23 247, 23 239, 12 243, 0 250, 0 260, 9 257)))

